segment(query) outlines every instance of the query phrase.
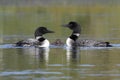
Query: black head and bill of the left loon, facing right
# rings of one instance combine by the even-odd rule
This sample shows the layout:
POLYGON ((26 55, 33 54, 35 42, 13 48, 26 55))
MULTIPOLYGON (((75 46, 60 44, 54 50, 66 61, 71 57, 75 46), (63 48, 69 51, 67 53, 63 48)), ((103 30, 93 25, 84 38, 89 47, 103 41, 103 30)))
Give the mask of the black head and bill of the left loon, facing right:
POLYGON ((44 35, 46 33, 54 33, 54 31, 48 30, 46 27, 38 27, 35 30, 34 36, 36 38, 36 37, 42 36, 42 35, 44 35))

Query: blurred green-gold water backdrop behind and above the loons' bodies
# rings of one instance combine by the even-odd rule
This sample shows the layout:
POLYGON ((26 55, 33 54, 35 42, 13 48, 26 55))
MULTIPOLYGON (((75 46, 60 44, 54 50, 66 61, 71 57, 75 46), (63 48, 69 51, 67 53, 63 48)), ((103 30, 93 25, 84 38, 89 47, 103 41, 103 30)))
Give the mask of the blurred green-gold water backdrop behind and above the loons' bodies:
MULTIPOLYGON (((102 4, 102 1, 100 3, 99 1, 98 3, 92 1, 93 4, 81 3, 82 5, 75 5, 74 3, 68 5, 67 2, 66 5, 57 5, 56 1, 53 5, 35 6, 20 5, 19 2, 17 5, 16 1, 16 4, 0 5, 1 38, 5 35, 33 36, 34 30, 38 26, 46 26, 56 32, 54 35, 46 35, 48 38, 67 37, 71 31, 61 25, 70 21, 77 21, 82 26, 81 37, 83 38, 110 40, 120 37, 120 6, 117 1, 108 1, 106 5, 102 4)), ((118 40, 114 41, 114 39, 111 41, 119 42, 118 40)))

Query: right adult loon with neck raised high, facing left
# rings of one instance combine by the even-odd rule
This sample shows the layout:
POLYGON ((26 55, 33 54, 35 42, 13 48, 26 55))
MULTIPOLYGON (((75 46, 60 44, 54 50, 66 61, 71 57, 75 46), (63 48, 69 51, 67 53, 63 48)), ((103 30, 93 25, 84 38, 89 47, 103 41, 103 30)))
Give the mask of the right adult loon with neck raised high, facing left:
POLYGON ((78 40, 80 32, 81 32, 81 26, 74 21, 69 22, 66 25, 63 25, 64 27, 68 27, 73 32, 72 34, 67 38, 66 45, 69 47, 72 46, 80 46, 80 47, 111 47, 109 42, 102 42, 102 41, 96 41, 96 40, 78 40))

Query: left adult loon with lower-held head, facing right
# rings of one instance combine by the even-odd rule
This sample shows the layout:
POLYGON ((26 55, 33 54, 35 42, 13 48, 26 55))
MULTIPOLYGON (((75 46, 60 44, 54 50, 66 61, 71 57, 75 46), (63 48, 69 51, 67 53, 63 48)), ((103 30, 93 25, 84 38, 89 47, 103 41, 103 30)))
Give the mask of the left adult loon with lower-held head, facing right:
POLYGON ((54 31, 48 30, 46 27, 38 27, 35 30, 35 39, 21 40, 16 43, 16 46, 26 47, 26 46, 38 46, 38 47, 49 47, 50 42, 43 37, 46 33, 54 33, 54 31))

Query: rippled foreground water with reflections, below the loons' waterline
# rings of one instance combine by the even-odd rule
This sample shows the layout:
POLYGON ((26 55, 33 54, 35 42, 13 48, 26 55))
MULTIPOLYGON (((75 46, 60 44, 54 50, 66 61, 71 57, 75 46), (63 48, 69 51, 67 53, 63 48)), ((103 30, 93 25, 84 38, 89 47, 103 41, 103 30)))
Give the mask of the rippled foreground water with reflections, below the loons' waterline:
POLYGON ((119 80, 120 48, 1 48, 0 80, 119 80))

